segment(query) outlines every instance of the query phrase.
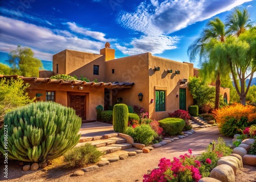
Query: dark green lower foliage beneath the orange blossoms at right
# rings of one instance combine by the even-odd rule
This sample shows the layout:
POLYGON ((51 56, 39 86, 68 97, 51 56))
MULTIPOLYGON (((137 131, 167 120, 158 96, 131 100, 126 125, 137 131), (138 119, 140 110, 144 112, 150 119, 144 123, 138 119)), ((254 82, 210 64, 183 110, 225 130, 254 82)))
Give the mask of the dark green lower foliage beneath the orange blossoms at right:
POLYGON ((233 137, 234 134, 242 134, 243 130, 251 124, 253 123, 247 122, 247 117, 241 117, 241 119, 231 117, 222 125, 220 132, 224 136, 233 137))

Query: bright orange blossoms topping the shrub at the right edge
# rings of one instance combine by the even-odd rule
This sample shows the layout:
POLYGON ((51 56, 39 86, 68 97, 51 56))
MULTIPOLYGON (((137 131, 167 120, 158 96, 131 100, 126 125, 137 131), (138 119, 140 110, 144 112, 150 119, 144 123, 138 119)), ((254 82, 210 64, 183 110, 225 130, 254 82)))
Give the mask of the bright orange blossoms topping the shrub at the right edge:
POLYGON ((222 125, 230 118, 235 118, 239 120, 242 117, 248 117, 248 121, 253 121, 256 119, 255 111, 256 108, 254 106, 244 106, 241 103, 234 103, 233 105, 223 107, 219 110, 215 110, 213 113, 216 122, 222 125))

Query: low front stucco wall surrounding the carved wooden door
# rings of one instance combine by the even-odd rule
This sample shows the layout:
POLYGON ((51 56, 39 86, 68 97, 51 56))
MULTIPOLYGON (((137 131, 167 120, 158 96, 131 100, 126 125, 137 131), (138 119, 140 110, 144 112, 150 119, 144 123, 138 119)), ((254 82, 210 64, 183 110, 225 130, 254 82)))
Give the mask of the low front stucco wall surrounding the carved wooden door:
POLYGON ((74 85, 71 89, 71 84, 56 84, 56 83, 42 83, 42 82, 30 82, 30 87, 27 89, 29 96, 34 98, 36 93, 42 94, 42 96, 36 98, 37 101, 46 100, 46 91, 55 91, 55 102, 61 103, 63 106, 69 106, 69 94, 71 95, 86 95, 86 119, 96 120, 97 113, 96 107, 98 105, 104 105, 104 88, 97 86, 84 86, 83 90, 78 89, 78 85, 74 85), (40 88, 40 89, 38 89, 40 88))

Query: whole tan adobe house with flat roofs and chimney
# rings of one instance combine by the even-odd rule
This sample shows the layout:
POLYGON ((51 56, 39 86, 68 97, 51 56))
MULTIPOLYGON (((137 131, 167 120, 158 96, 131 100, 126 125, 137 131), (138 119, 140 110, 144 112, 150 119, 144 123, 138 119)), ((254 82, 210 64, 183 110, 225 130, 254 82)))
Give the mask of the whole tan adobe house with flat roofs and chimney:
MULTIPOLYGON (((197 75, 192 63, 176 62, 151 53, 115 59, 106 43, 100 54, 65 49, 53 56, 53 71, 40 71, 39 78, 23 77, 28 93, 37 100, 51 100, 72 107, 85 120, 96 120, 96 107, 104 110, 117 102, 138 105, 150 118, 163 119, 168 112, 193 105, 187 82, 197 75), (56 74, 80 75, 95 82, 51 80, 56 74), (142 96, 143 95, 143 96, 142 96), (140 96, 140 97, 139 97, 140 96), (142 98, 141 98, 142 96, 142 98)), ((229 102, 229 89, 221 88, 229 102)))

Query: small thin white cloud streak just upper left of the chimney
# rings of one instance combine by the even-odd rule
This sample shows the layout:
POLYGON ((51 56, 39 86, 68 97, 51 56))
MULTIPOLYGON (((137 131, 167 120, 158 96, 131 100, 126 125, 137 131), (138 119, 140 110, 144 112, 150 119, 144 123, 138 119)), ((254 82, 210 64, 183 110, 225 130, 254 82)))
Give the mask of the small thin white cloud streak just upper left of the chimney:
POLYGON ((72 30, 73 32, 76 32, 85 36, 89 36, 103 42, 114 41, 113 39, 104 38, 105 34, 101 32, 90 31, 87 28, 78 27, 75 22, 67 22, 67 24, 69 25, 70 30, 72 30))

